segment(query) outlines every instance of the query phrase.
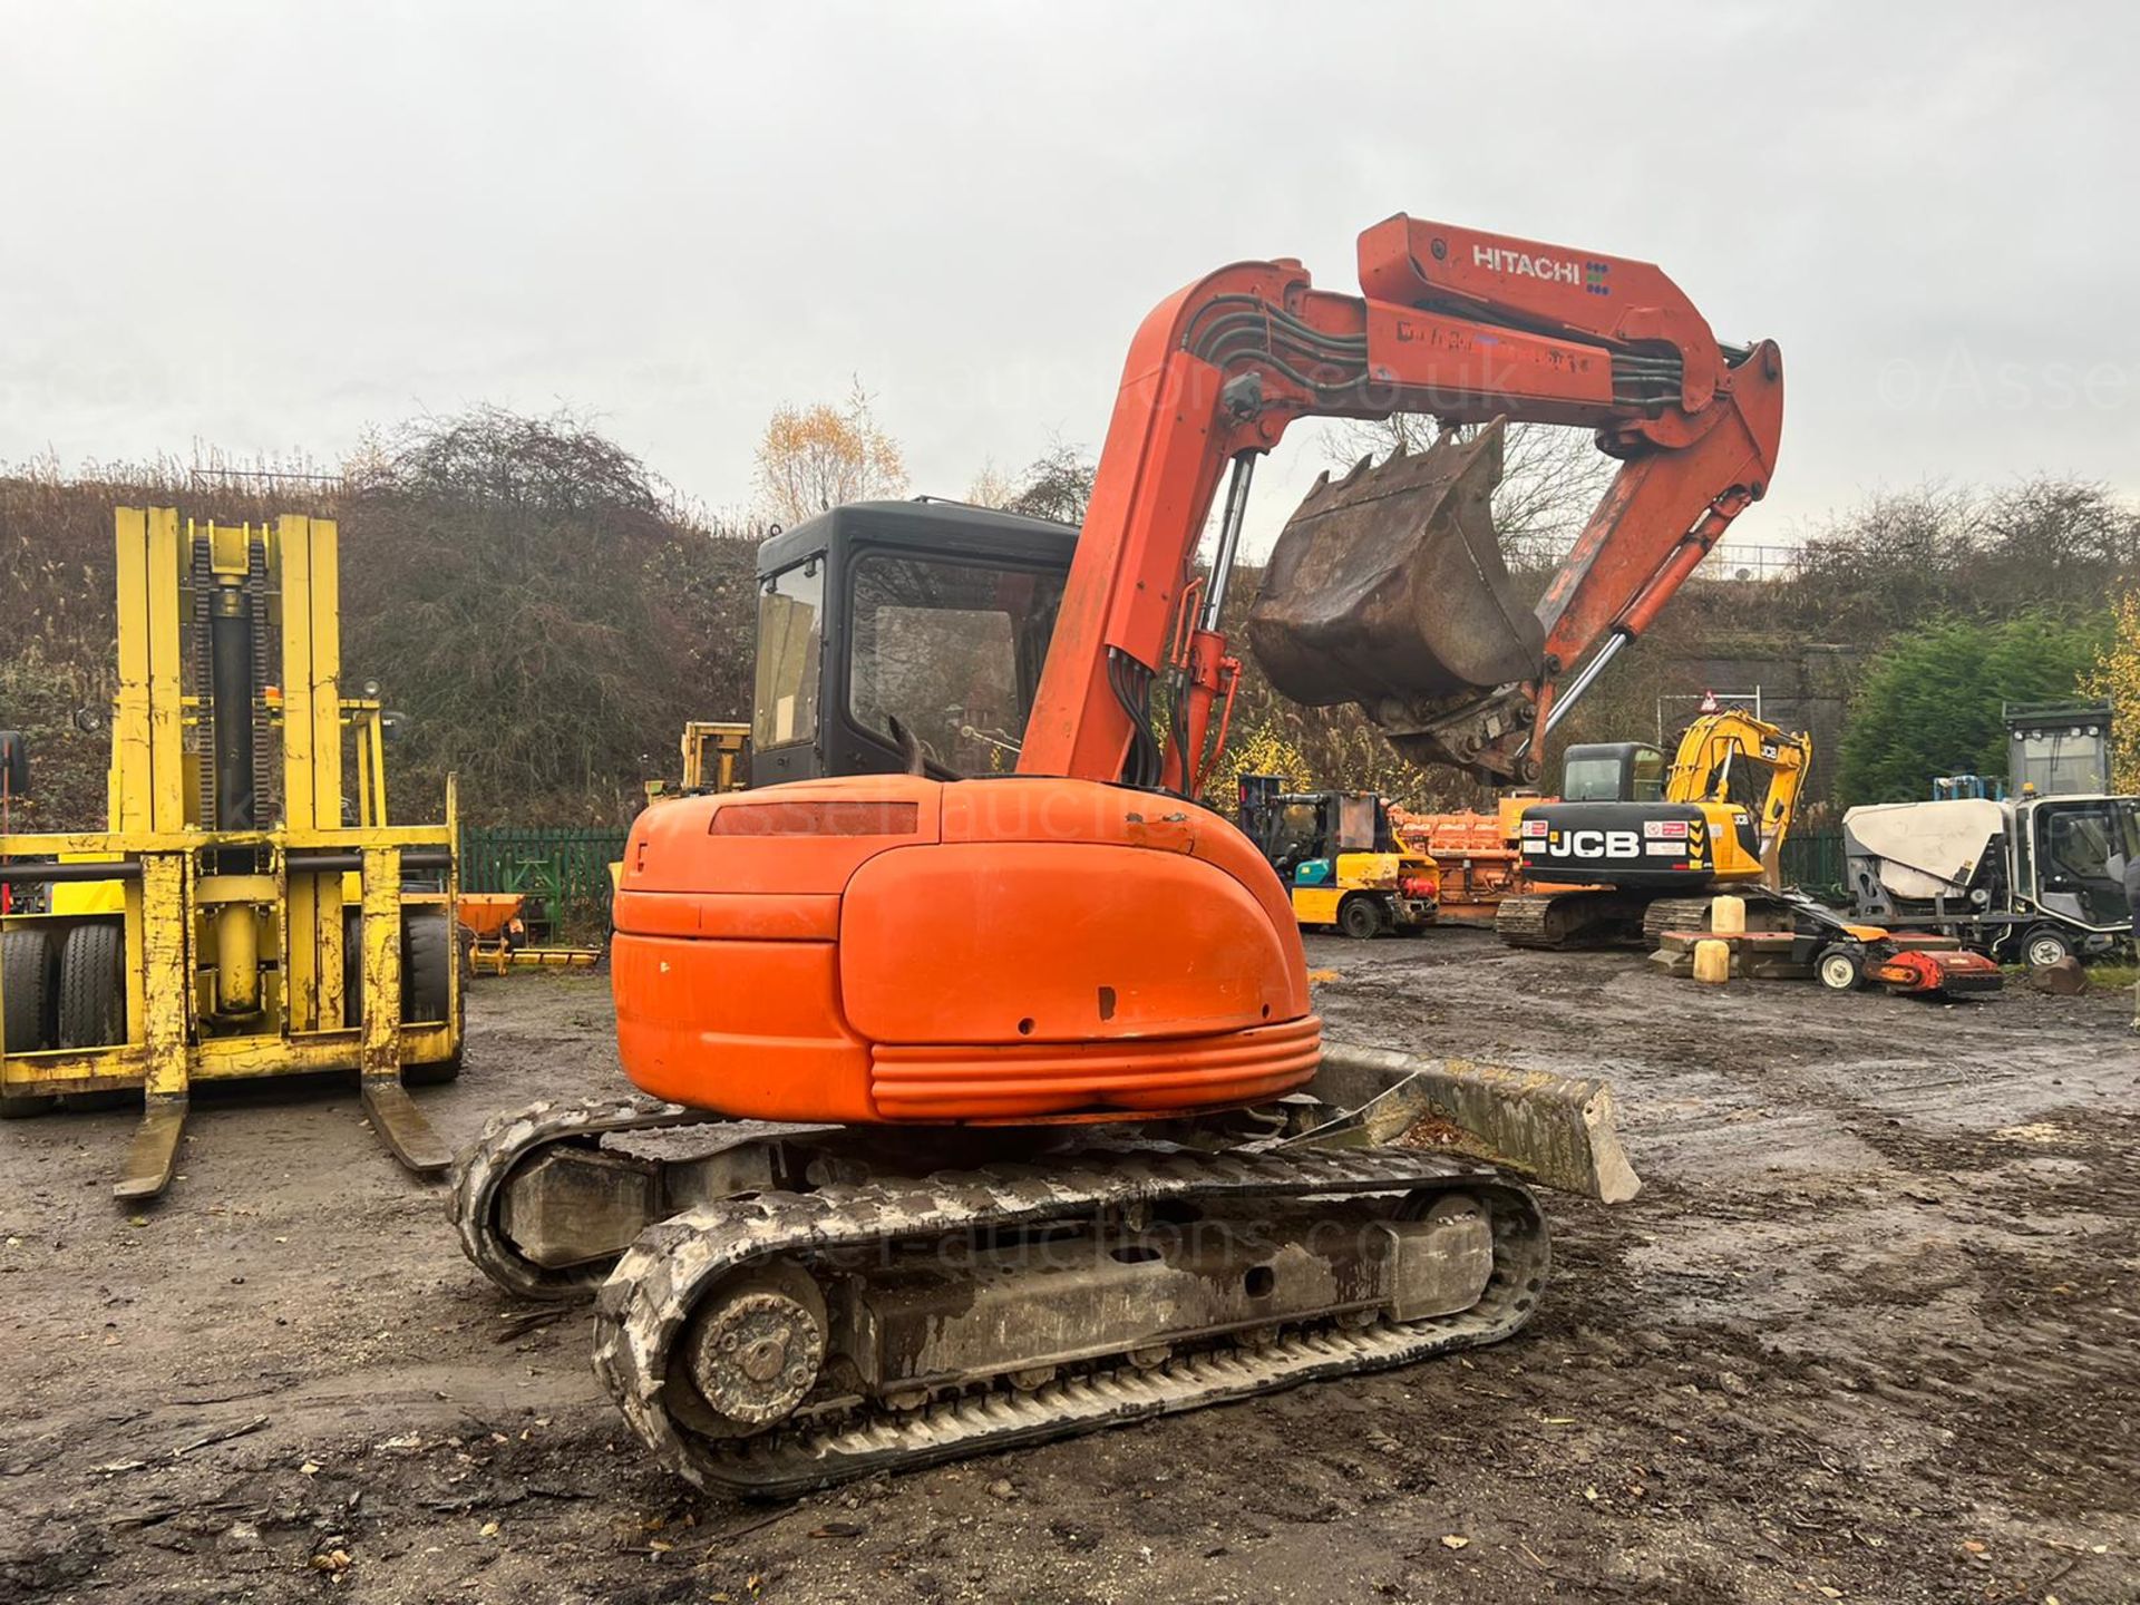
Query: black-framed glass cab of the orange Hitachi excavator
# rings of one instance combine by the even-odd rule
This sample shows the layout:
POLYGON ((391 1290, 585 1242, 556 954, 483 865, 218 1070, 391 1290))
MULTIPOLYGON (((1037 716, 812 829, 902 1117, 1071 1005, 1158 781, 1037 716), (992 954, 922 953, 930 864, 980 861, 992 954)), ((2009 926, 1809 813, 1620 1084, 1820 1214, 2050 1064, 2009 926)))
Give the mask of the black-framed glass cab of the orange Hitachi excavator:
POLYGON ((758 550, 751 785, 1008 775, 1076 529, 946 501, 835 507, 758 550))

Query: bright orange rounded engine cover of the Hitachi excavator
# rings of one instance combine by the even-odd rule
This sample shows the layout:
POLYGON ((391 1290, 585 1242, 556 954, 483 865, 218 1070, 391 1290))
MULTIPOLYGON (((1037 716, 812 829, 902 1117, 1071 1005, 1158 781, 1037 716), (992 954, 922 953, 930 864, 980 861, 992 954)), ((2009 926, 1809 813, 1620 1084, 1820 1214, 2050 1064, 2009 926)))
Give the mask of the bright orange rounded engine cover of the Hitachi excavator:
POLYGON ((736 1117, 1213 1109, 1320 1055, 1278 875, 1164 794, 869 775, 657 802, 614 918, 625 1074, 736 1117))

